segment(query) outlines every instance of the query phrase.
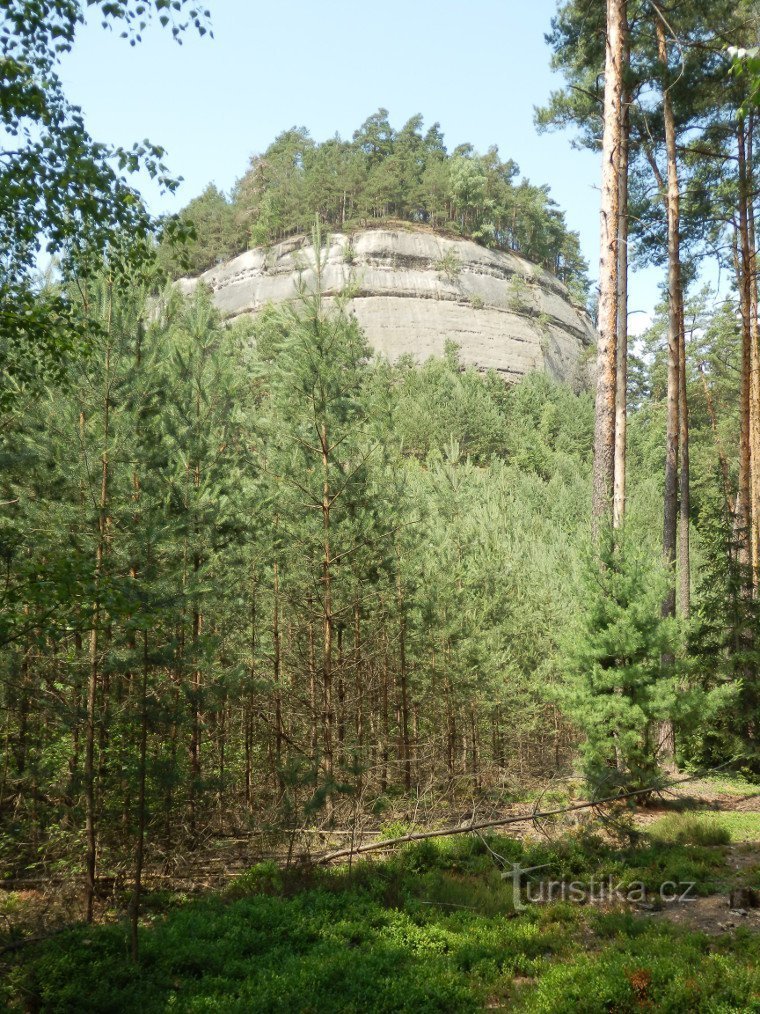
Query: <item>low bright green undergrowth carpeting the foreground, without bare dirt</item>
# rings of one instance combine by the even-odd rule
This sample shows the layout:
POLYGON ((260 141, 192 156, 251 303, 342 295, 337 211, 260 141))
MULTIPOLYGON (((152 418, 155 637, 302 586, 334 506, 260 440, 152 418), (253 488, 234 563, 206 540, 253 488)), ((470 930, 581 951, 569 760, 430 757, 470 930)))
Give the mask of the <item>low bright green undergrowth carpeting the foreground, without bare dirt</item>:
POLYGON ((721 849, 592 835, 521 844, 420 842, 383 862, 253 867, 161 916, 141 959, 127 927, 77 927, 20 952, 0 1005, 28 1011, 729 1011, 760 1009, 758 939, 718 942, 628 912, 556 902, 516 911, 505 868, 589 881, 726 876, 721 849), (501 857, 497 859, 496 857, 501 857))

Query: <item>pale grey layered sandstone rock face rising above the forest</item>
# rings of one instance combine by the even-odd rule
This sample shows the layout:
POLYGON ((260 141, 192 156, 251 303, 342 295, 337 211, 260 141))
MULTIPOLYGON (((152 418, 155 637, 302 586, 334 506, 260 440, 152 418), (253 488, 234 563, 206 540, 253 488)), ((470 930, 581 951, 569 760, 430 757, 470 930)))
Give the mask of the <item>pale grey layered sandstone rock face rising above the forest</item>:
MULTIPOLYGON (((299 277, 314 285, 305 237, 252 249, 182 279, 183 291, 208 285, 227 317, 255 313, 297 297, 299 277)), ((451 340, 464 363, 514 380, 545 370, 573 382, 596 341, 588 314, 552 275, 522 258, 412 229, 372 229, 329 239, 322 276, 326 296, 351 286, 349 303, 370 345, 396 359, 440 356, 451 340)))

